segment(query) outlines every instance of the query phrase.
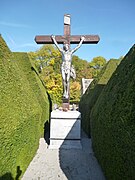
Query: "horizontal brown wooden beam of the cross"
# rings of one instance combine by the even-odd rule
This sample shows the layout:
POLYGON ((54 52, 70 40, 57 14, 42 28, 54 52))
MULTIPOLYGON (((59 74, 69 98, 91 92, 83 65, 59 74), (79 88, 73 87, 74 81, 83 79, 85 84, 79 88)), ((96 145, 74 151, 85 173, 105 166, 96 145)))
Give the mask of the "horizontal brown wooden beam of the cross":
MULTIPOLYGON (((73 35, 73 36, 57 35, 55 36, 55 38, 58 44, 63 44, 64 42, 68 42, 68 39, 70 39, 70 44, 78 44, 81 40, 81 36, 85 37, 83 44, 97 44, 100 40, 98 35, 73 35)), ((36 36, 35 41, 37 44, 54 44, 51 36, 48 35, 36 36)))

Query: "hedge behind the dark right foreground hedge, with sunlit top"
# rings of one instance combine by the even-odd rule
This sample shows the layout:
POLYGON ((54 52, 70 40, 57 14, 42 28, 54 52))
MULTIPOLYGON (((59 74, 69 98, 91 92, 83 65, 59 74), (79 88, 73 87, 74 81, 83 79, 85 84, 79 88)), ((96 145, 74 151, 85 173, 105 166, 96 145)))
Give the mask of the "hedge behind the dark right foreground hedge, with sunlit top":
POLYGON ((79 110, 82 117, 82 128, 88 136, 91 136, 90 132, 90 113, 95 105, 99 95, 101 94, 103 88, 107 84, 108 80, 112 76, 113 72, 119 65, 120 60, 111 59, 103 67, 97 79, 95 79, 88 87, 85 94, 81 97, 79 103, 79 110))

